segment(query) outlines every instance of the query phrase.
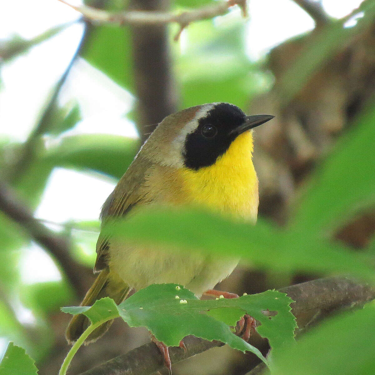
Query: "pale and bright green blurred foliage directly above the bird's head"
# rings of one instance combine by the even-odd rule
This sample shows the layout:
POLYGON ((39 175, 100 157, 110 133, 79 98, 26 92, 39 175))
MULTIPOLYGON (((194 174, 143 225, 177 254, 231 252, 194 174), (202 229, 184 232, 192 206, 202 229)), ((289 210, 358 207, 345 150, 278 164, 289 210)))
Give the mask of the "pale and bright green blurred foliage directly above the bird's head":
POLYGON ((246 108, 249 99, 264 90, 264 83, 271 81, 246 56, 244 23, 228 18, 219 27, 203 21, 184 31, 186 47, 177 55, 176 62, 182 108, 214 102, 246 108), (259 77, 264 78, 260 81, 259 77))

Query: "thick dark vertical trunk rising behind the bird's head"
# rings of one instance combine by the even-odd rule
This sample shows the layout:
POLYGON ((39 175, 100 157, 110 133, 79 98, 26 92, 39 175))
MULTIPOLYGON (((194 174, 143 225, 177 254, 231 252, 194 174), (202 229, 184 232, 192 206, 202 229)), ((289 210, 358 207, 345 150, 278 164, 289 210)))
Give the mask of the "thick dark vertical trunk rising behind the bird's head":
MULTIPOLYGON (((169 8, 169 0, 131 0, 130 9, 156 11, 169 8)), ((132 25, 136 125, 142 142, 164 117, 177 111, 172 54, 166 25, 132 25)))

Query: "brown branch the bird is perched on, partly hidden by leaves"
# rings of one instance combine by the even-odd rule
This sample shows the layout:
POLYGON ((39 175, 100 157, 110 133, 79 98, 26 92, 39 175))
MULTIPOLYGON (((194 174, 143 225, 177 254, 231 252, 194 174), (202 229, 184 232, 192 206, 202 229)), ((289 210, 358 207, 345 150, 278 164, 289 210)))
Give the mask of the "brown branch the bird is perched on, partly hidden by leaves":
MULTIPOLYGON (((347 278, 327 278, 305 282, 281 290, 294 301, 293 314, 301 328, 309 324, 318 315, 324 315, 337 309, 362 305, 375 299, 375 290, 368 285, 359 284, 347 278)), ((172 363, 180 362, 210 348, 221 346, 220 342, 209 342, 188 336, 184 339, 187 351, 178 347, 169 350, 172 363)), ((250 344, 261 351, 267 350, 267 340, 257 333, 252 335, 250 344)), ((254 368, 260 362, 251 362, 254 368)), ((81 375, 149 375, 163 368, 162 356, 155 344, 145 344, 126 354, 115 357, 81 375)))

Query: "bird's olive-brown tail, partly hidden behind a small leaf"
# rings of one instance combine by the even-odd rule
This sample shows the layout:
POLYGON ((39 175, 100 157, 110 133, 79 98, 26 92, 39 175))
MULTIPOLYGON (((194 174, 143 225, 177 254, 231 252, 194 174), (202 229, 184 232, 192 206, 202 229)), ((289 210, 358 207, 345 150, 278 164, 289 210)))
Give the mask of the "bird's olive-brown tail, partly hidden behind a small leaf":
MULTIPOLYGON (((92 306, 93 303, 103 297, 111 297, 114 302, 118 305, 129 294, 129 285, 117 276, 117 274, 110 272, 108 269, 104 269, 99 273, 92 287, 87 291, 85 298, 81 302, 80 306, 92 306)), ((107 332, 111 326, 113 320, 103 323, 100 327, 94 330, 90 336, 86 339, 85 344, 90 344, 98 340, 101 336, 107 332)), ((66 329, 65 337, 69 344, 74 343, 82 335, 84 330, 89 327, 90 321, 85 315, 74 315, 66 329)))

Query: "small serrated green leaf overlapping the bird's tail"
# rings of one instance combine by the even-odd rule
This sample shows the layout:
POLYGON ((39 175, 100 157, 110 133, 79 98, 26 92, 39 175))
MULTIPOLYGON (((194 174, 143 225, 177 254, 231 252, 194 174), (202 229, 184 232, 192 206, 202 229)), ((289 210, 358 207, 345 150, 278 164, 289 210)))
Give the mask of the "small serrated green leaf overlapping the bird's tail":
POLYGON ((110 320, 119 317, 117 305, 110 297, 97 300, 92 306, 63 307, 61 311, 73 315, 84 314, 90 319, 92 324, 98 323, 101 320, 110 320))

